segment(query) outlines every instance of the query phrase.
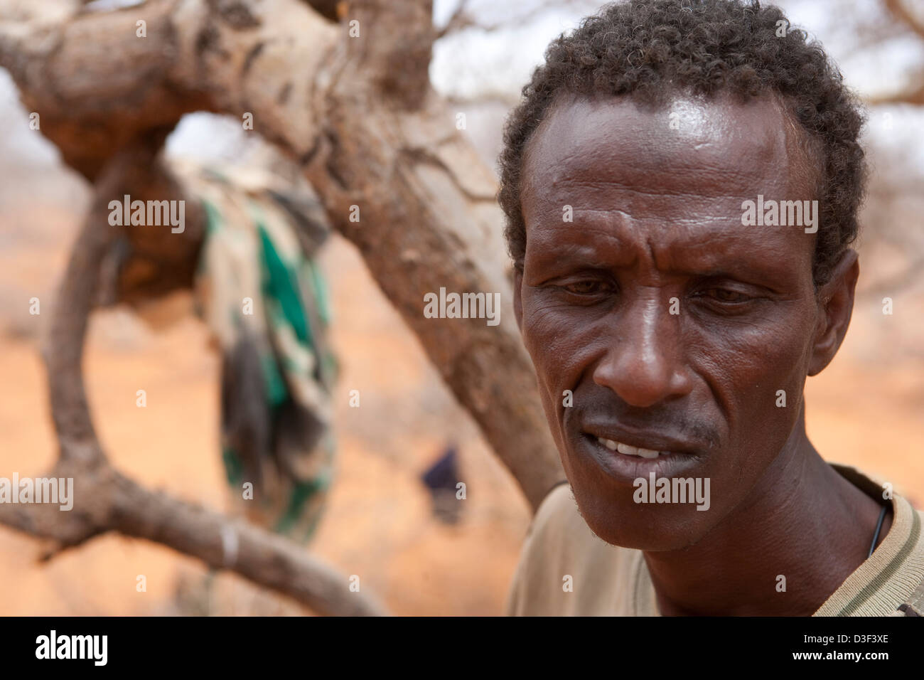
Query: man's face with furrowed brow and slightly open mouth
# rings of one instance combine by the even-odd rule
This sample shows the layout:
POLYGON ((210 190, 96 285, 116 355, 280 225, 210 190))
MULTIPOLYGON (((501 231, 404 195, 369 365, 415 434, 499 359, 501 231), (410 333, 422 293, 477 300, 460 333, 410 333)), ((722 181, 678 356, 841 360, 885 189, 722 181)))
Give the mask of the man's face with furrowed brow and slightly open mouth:
POLYGON ((683 548, 787 483, 815 236, 742 226, 742 203, 815 199, 800 153, 768 99, 563 101, 529 142, 517 318, 578 508, 609 543, 683 548), (637 503, 652 472, 709 478, 709 510, 637 503))

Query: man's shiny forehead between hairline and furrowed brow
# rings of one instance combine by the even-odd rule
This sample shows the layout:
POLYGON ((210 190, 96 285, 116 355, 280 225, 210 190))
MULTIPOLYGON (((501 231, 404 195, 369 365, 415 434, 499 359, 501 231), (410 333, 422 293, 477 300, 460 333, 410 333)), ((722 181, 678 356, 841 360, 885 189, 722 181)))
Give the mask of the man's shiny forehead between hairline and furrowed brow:
POLYGON ((529 141, 522 197, 600 201, 611 188, 691 198, 798 192, 796 134, 770 96, 747 103, 677 96, 657 108, 627 97, 563 98, 529 141))

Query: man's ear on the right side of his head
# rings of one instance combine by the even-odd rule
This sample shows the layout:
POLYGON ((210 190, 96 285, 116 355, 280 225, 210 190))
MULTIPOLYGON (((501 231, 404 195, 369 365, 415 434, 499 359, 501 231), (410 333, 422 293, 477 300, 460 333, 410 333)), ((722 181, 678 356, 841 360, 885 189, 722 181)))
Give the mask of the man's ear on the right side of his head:
POLYGON ((834 266, 831 278, 818 291, 820 315, 808 363, 809 376, 821 373, 844 341, 850 315, 854 311, 854 291, 859 273, 857 251, 848 248, 834 266))

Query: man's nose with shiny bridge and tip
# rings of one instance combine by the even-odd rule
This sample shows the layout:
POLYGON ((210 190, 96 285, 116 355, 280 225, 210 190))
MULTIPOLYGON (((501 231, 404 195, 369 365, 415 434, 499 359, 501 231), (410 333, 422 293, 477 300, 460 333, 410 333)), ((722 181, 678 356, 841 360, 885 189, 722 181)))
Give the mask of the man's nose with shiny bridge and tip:
POLYGON ((680 326, 679 315, 669 314, 660 299, 630 303, 610 327, 593 381, 640 408, 688 394, 693 383, 680 326))

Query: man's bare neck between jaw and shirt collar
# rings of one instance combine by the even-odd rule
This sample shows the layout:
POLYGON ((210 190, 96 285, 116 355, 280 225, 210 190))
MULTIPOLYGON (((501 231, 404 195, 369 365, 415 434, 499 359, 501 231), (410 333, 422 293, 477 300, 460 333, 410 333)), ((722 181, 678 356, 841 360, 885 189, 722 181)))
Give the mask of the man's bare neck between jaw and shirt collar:
POLYGON ((881 510, 821 460, 804 412, 748 499, 696 545, 645 553, 664 615, 810 615, 867 559, 881 510))

